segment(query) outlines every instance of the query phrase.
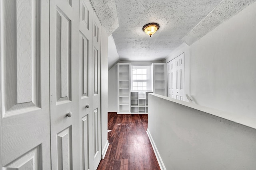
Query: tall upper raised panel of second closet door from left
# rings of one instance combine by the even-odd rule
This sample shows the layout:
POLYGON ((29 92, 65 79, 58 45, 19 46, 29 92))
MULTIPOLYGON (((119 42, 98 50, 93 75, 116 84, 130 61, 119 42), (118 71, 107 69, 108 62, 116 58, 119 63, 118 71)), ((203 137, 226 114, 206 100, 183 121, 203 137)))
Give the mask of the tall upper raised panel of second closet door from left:
POLYGON ((71 101, 71 21, 56 8, 56 100, 71 101))

